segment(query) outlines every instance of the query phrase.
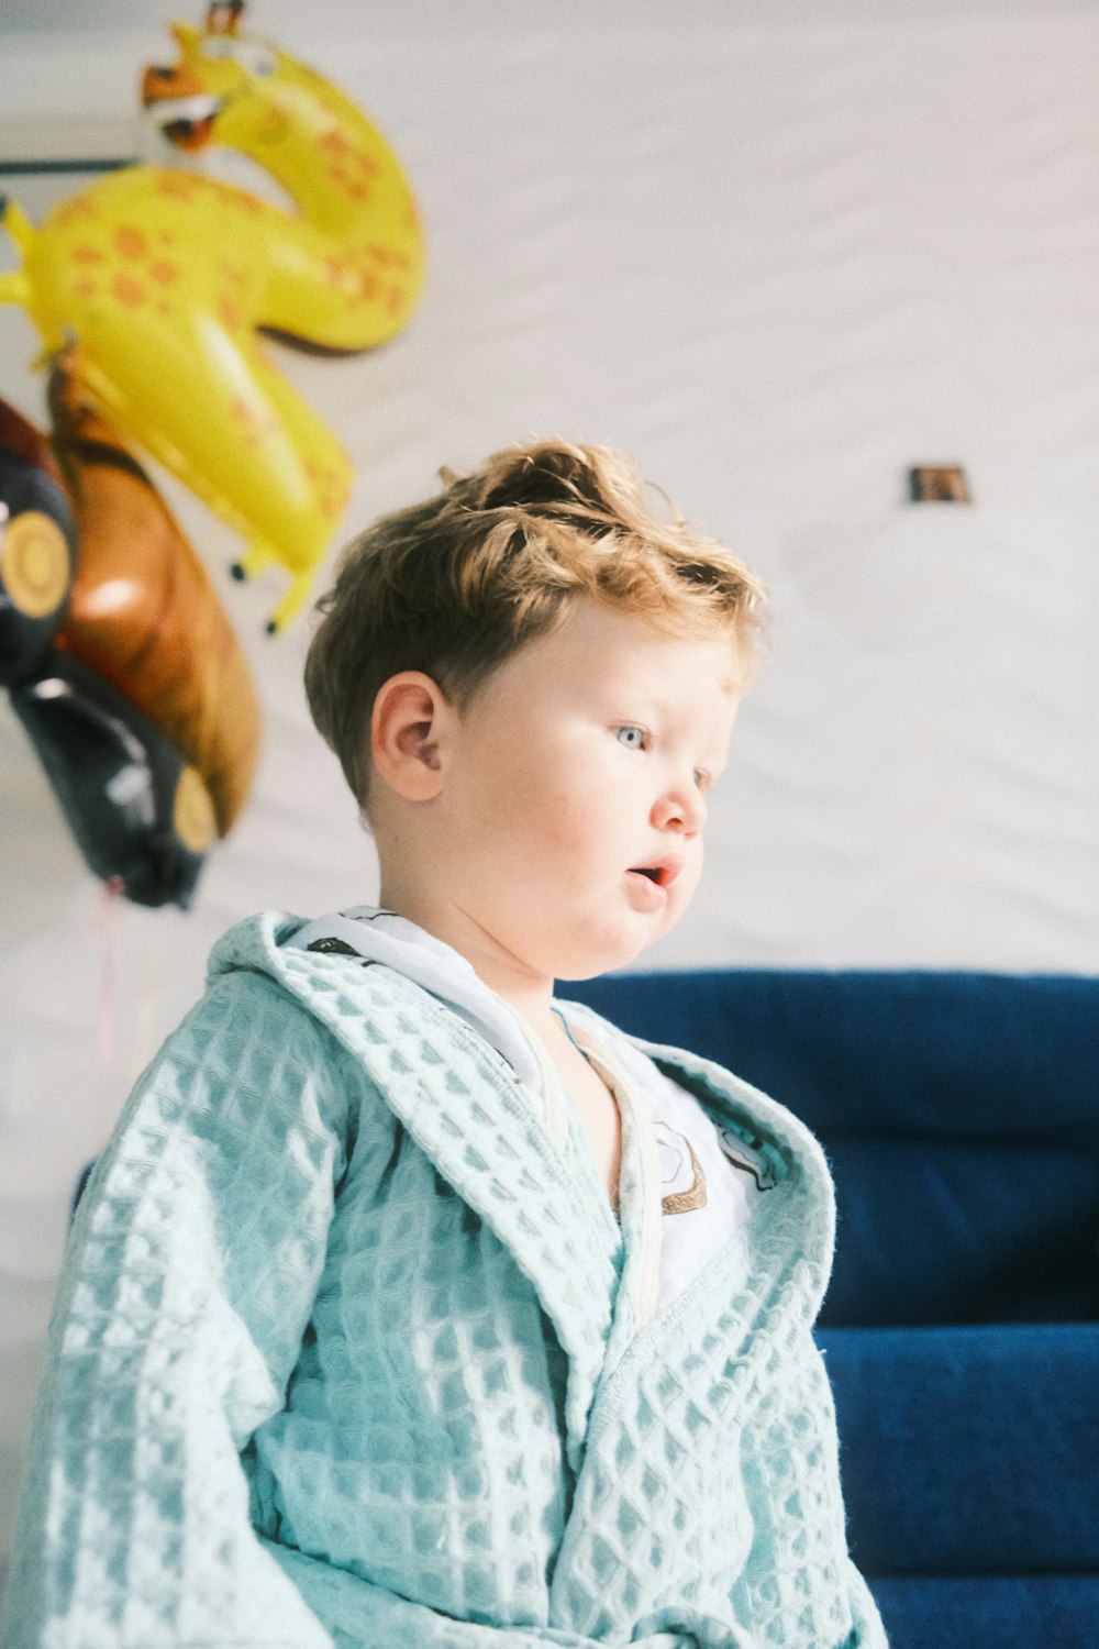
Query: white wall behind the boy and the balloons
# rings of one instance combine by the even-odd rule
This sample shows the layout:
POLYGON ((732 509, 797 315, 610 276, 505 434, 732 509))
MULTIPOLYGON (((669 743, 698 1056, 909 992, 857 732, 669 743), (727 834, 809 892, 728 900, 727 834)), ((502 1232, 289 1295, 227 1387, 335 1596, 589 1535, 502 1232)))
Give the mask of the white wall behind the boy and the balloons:
MULTIPOLYGON (((773 589, 709 890, 649 960, 1094 971, 1099 16, 407 10, 371 7, 367 36, 359 5, 308 26, 290 0, 252 7, 377 119, 430 236, 402 338, 287 356, 354 457, 348 528, 438 463, 557 430, 631 450, 773 589), (972 508, 903 503, 906 467, 936 460, 966 465, 972 508)), ((49 12, 0 18, 28 30, 0 33, 0 134, 58 99, 117 120, 170 56, 147 5, 104 0, 84 36, 43 31, 84 7, 49 12)), ((30 414, 33 351, 0 310, 0 392, 30 414)), ((191 914, 105 918, 0 706, 5 1478, 77 1164, 209 943, 262 905, 374 890, 303 707, 303 627, 259 633, 277 576, 231 585, 229 531, 170 495, 255 661, 264 765, 191 914)))

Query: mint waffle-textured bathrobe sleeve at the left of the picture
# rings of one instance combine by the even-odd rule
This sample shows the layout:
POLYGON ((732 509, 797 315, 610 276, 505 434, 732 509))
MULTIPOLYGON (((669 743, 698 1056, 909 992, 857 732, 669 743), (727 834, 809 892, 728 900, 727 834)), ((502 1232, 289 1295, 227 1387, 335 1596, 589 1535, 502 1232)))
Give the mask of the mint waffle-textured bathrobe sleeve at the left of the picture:
POLYGON ((138 1083, 69 1240, 3 1649, 331 1649, 241 1463, 283 1407, 354 1077, 272 981, 216 981, 138 1083))

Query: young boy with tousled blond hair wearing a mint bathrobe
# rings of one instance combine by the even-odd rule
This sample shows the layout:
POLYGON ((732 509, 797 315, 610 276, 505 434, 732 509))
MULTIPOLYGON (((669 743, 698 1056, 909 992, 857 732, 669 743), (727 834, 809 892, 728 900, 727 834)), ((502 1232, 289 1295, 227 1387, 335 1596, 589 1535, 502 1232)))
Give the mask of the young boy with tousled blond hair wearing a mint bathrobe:
POLYGON ((381 909, 227 933, 77 1212, 8 1649, 885 1642, 819 1148, 554 996, 687 905, 760 587, 613 453, 447 482, 306 665, 381 909))

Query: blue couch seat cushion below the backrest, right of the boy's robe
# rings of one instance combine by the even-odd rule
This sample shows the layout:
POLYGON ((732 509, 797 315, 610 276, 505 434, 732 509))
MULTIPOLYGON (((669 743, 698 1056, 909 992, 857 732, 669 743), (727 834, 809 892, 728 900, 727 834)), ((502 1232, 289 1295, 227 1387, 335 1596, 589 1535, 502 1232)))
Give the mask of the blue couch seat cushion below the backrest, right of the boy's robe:
POLYGON ((865 1573, 1099 1573, 1099 1324, 829 1329, 819 1342, 865 1573))

